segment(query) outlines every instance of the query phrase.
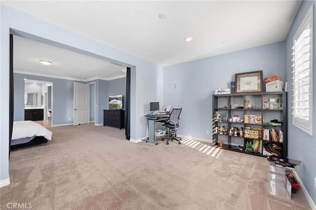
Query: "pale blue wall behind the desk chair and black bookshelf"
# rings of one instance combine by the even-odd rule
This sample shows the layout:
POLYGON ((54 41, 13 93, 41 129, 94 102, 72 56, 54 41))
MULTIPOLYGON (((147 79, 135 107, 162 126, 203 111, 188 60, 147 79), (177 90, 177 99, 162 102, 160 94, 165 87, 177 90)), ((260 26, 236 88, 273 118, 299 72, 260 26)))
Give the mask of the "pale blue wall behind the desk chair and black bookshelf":
POLYGON ((230 88, 236 73, 256 70, 284 80, 284 42, 165 67, 163 107, 182 107, 178 133, 210 141, 214 90, 230 88))

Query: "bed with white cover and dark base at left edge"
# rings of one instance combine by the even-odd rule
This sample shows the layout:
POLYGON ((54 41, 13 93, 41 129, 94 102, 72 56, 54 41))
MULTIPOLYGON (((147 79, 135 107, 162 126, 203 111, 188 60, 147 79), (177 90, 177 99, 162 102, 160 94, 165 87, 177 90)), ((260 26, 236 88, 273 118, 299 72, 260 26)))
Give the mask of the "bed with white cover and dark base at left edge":
POLYGON ((52 132, 33 121, 13 122, 11 149, 22 146, 35 145, 51 140, 52 132))

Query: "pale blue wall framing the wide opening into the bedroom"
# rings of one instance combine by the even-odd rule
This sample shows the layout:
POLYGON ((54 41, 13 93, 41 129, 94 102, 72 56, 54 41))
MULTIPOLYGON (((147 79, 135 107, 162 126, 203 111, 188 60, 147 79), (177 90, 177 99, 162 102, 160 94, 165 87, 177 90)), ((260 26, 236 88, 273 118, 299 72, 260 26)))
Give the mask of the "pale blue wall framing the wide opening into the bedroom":
MULTIPOLYGON (((162 67, 3 4, 0 6, 0 20, 0 180, 9 178, 10 33, 129 67, 131 69, 130 136, 131 141, 141 140, 146 128, 144 115, 147 111, 144 106, 148 104, 148 101, 162 100, 162 89, 159 88, 162 86, 162 76, 159 76, 162 75, 162 67), (156 79, 148 80, 148 78, 156 79)), ((56 84, 58 85, 58 82, 56 84)), ((65 87, 62 88, 65 89, 65 87)), ((54 91, 53 87, 53 94, 54 91)), ((99 113, 99 107, 96 112, 99 113)), ((65 116, 68 114, 65 113, 65 116)), ((55 123, 59 124, 59 122, 55 123)))

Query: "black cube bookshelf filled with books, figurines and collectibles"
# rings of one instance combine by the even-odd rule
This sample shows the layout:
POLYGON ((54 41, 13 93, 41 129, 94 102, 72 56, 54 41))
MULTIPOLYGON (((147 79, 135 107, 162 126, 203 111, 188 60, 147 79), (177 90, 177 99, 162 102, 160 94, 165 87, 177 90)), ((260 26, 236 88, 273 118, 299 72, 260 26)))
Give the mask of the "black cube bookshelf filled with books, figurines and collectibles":
POLYGON ((277 150, 278 156, 280 158, 287 157, 286 92, 234 93, 234 94, 218 94, 218 95, 214 94, 212 95, 212 107, 213 107, 212 108, 212 114, 213 114, 212 137, 213 137, 213 141, 215 141, 215 145, 223 149, 227 149, 231 151, 236 151, 236 152, 241 152, 245 154, 261 156, 261 157, 267 157, 270 153, 269 151, 271 151, 269 150, 269 145, 272 146, 274 144, 274 146, 277 145, 280 147, 280 148, 277 147, 279 148, 279 150, 277 150), (268 108, 263 107, 264 100, 269 102, 270 100, 274 101, 274 99, 278 101, 279 108, 276 109, 275 107, 271 107, 274 109, 270 109, 270 104, 268 108), (248 106, 245 105, 246 100, 248 101, 247 102, 248 106), (249 104, 251 104, 251 108, 249 108, 249 104), (236 108, 236 106, 238 106, 238 108, 236 108), (222 116, 220 120, 217 119, 219 112, 221 112, 221 116, 222 116), (260 124, 245 122, 244 121, 245 115, 258 116, 258 121, 256 121, 256 123, 260 122, 260 124), (233 119, 234 116, 235 116, 235 119, 237 119, 237 121, 230 120, 230 118, 233 119), (238 118, 240 118, 241 122, 238 121, 238 118), (274 119, 282 122, 282 125, 277 125, 277 126, 269 125, 268 122, 274 119), (232 127, 239 129, 239 133, 237 137, 234 136, 234 133, 232 133, 231 135, 229 134, 229 128, 232 128, 232 127), (258 131, 258 136, 254 138, 254 136, 251 136, 251 137, 245 136, 244 133, 240 135, 240 130, 242 130, 241 128, 243 128, 245 131, 245 127, 247 128, 247 132, 249 130, 251 131, 250 133, 252 133, 253 128, 257 129, 254 133, 257 134, 257 131, 258 131), (220 128, 224 128, 224 129, 220 129, 220 128), (278 136, 276 137, 276 140, 270 139, 272 138, 271 136, 269 140, 267 140, 268 136, 264 136, 264 134, 267 133, 265 131, 269 130, 271 132, 272 128, 275 129, 278 136), (222 132, 220 132, 220 130, 222 132), (280 132, 282 133, 282 135, 279 135, 280 132), (282 142, 279 141, 279 136, 283 137, 282 142), (250 143, 252 144, 252 147, 256 146, 257 149, 252 148, 251 150, 250 143), (240 145, 243 147, 242 151, 233 149, 237 145, 240 145), (246 145, 248 146, 248 148, 246 148, 246 145), (265 148, 265 146, 267 146, 267 149, 265 148))

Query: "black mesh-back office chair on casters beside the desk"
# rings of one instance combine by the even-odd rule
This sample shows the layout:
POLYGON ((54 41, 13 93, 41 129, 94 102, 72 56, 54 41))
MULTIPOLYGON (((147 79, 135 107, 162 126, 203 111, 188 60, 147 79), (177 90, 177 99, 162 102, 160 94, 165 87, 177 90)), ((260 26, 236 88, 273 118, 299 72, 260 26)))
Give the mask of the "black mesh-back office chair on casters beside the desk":
POLYGON ((176 140, 181 144, 181 138, 176 138, 176 132, 179 129, 179 119, 180 119, 180 113, 182 108, 173 108, 171 111, 171 114, 169 115, 168 120, 164 123, 163 126, 165 126, 167 130, 167 137, 163 137, 161 140, 167 139, 166 144, 169 144, 169 140, 173 141, 176 140))

